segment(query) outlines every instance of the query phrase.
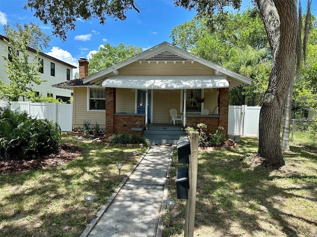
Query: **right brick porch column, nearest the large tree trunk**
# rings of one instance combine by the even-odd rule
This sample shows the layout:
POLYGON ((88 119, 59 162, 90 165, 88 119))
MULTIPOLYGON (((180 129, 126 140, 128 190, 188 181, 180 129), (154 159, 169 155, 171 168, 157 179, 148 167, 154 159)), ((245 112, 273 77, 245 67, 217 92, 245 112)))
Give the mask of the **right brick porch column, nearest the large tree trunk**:
POLYGON ((229 88, 220 88, 219 98, 219 125, 223 126, 228 135, 229 88))

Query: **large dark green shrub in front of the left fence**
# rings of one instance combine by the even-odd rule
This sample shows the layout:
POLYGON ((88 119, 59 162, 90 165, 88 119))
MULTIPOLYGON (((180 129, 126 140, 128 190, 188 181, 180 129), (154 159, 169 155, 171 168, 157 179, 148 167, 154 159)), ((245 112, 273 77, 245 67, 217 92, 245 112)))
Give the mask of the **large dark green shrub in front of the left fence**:
POLYGON ((47 119, 5 110, 0 115, 1 159, 28 159, 57 151, 60 127, 47 119))

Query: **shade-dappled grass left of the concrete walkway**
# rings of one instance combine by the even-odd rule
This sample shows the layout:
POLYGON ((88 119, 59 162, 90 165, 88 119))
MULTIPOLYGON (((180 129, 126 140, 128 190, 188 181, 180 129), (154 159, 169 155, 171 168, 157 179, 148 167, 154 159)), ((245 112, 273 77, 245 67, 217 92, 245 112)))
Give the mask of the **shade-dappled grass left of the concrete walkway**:
POLYGON ((84 197, 96 197, 89 221, 118 187, 117 162, 124 177, 140 149, 104 147, 91 140, 62 137, 82 149, 82 156, 55 167, 20 174, 0 174, 1 237, 78 237, 86 228, 84 197))

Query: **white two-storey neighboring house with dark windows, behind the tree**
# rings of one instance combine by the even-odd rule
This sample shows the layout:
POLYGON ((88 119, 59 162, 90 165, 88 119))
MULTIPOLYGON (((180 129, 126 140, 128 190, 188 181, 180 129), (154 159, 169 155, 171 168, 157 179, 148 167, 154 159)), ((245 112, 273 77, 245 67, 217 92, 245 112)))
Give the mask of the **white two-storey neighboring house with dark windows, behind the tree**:
MULTIPOLYGON (((5 48, 10 46, 6 41, 8 38, 0 35, 0 55, 5 55, 8 57, 8 52, 5 51, 5 48)), ((28 48, 29 58, 31 58, 36 50, 34 48, 28 48)), ((34 57, 34 56, 33 56, 34 57)), ((31 59, 30 59, 31 60, 31 59)), ((65 63, 59 59, 56 59, 50 55, 40 52, 38 59, 43 67, 39 70, 41 73, 40 79, 46 79, 47 81, 42 82, 40 85, 33 84, 34 89, 38 94, 42 94, 43 96, 53 96, 54 98, 62 99, 63 101, 69 101, 72 91, 69 89, 58 89, 52 87, 52 84, 59 83, 65 80, 71 80, 73 78, 73 69, 76 68, 73 65, 65 63)), ((7 61, 0 57, 0 79, 9 84, 10 80, 8 79, 8 75, 5 72, 6 67, 4 65, 7 64, 7 61)), ((22 100, 20 98, 19 100, 22 100)))

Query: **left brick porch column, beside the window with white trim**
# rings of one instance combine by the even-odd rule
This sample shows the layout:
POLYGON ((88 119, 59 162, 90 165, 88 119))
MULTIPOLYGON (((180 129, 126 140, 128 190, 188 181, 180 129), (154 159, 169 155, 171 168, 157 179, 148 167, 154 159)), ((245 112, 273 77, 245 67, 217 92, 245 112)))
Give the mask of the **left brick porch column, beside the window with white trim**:
POLYGON ((106 88, 106 135, 114 133, 114 88, 106 88))

